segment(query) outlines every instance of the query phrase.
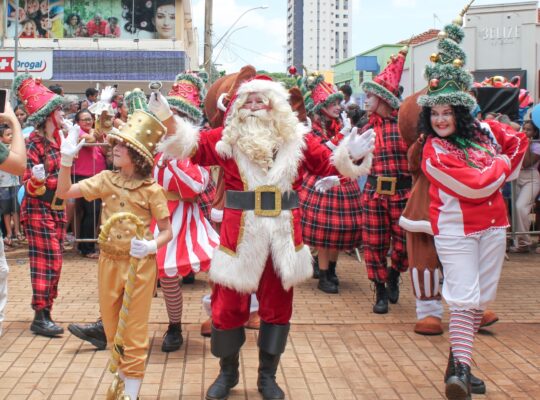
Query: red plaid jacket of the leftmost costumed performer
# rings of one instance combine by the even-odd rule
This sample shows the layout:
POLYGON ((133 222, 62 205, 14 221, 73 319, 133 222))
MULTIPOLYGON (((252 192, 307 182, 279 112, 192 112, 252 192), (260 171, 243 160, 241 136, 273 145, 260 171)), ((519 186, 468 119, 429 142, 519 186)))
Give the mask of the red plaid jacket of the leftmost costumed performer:
MULTIPOLYGON (((26 141, 26 171, 23 175, 23 184, 26 186, 32 177, 32 167, 43 164, 45 167, 45 187, 48 190, 56 190, 58 183, 58 171, 60 170, 60 143, 53 143, 44 136, 34 131, 26 141)), ((63 210, 51 210, 50 203, 32 197, 26 191, 21 204, 21 221, 27 219, 48 219, 66 221, 63 210)))

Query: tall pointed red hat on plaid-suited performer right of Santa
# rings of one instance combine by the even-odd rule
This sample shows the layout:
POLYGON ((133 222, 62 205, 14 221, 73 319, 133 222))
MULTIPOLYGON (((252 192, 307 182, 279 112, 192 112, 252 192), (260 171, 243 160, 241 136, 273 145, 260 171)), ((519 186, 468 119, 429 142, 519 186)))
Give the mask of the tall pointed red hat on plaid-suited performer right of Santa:
POLYGON ((405 66, 407 57, 407 47, 402 48, 397 56, 390 57, 386 68, 373 81, 362 83, 362 90, 366 93, 374 94, 384 100, 393 109, 398 109, 399 104, 399 82, 405 66))

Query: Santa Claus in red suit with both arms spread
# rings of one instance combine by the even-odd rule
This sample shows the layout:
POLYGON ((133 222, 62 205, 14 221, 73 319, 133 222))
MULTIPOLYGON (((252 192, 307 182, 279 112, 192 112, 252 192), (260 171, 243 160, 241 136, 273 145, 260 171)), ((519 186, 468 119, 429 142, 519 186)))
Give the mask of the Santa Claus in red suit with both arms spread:
POLYGON ((257 76, 231 100, 223 127, 204 133, 170 117, 159 94, 149 106, 172 132, 160 151, 223 169, 225 207, 220 246, 209 277, 212 289, 211 351, 220 373, 207 399, 226 399, 239 379, 250 293, 259 300, 257 386, 265 399, 283 399, 276 383, 292 314, 293 286, 312 274, 302 241, 298 194, 305 171, 357 178, 369 172, 372 132, 352 134, 332 152, 301 124, 278 82, 257 76))

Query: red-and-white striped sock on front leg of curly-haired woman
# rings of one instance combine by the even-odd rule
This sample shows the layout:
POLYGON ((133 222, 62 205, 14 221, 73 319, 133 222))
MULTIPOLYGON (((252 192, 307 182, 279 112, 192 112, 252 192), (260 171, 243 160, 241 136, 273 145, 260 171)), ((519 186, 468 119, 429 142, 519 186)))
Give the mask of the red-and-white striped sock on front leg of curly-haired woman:
POLYGON ((475 310, 450 312, 450 344, 454 357, 462 364, 471 366, 474 341, 475 310))

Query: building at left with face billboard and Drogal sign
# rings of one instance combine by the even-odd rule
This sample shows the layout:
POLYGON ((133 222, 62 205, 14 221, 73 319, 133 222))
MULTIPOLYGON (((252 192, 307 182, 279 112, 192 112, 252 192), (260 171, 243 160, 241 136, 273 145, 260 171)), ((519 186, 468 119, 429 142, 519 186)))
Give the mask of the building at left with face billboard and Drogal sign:
POLYGON ((49 0, 48 10, 36 14, 27 4, 20 2, 24 19, 18 21, 12 2, 2 5, 0 87, 10 87, 16 69, 59 84, 65 93, 111 84, 123 93, 152 80, 168 90, 178 73, 198 70, 190 0, 167 8, 152 1, 49 0), (129 6, 148 13, 130 12, 129 6), (44 18, 48 24, 32 33, 44 18))

